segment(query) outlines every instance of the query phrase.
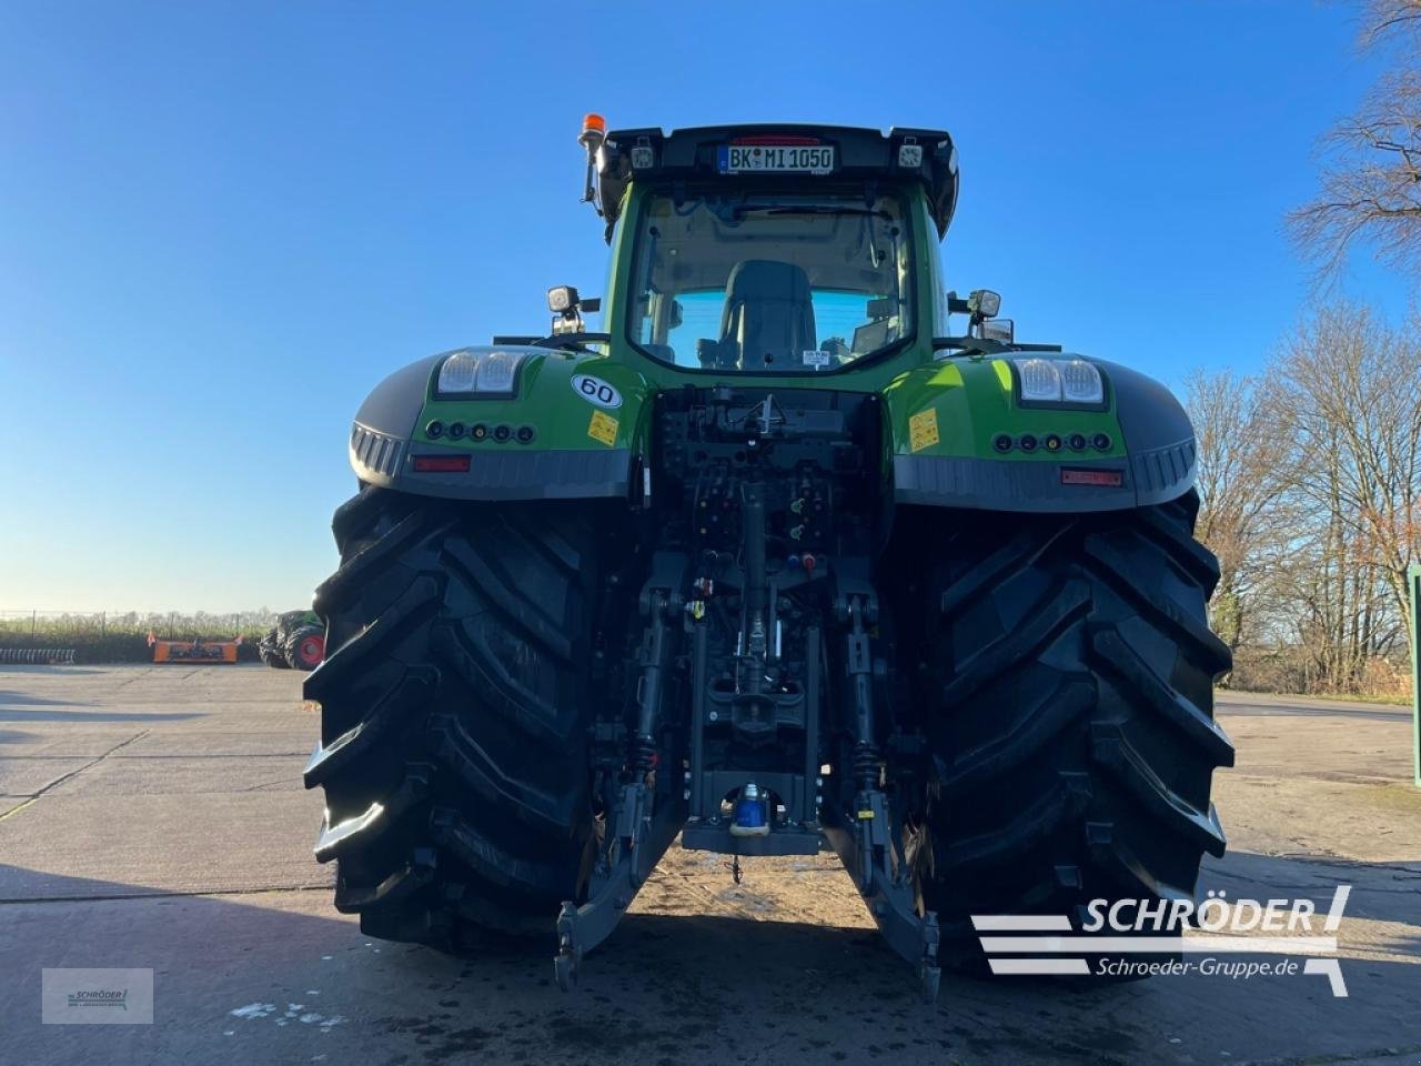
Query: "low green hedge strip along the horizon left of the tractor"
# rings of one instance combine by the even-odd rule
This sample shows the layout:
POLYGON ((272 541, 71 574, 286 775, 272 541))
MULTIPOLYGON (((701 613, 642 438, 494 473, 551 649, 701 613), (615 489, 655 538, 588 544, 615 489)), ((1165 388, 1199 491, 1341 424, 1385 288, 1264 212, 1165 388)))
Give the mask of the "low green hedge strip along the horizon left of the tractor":
POLYGON ((240 661, 256 659, 256 644, 276 624, 273 611, 178 614, 136 611, 0 611, 0 648, 74 648, 75 662, 146 662, 148 634, 162 640, 227 641, 242 637, 240 661))

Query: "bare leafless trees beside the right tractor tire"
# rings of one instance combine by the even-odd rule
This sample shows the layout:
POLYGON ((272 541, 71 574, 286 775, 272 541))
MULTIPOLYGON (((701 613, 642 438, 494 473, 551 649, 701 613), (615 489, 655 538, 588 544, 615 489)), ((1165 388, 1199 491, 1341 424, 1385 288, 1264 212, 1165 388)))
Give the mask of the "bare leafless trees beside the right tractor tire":
MULTIPOLYGON (((1235 651, 1290 648, 1307 691, 1357 692, 1407 647, 1421 559, 1421 314, 1309 316, 1255 377, 1192 374, 1211 621, 1235 651)), ((1242 659, 1241 659, 1242 661, 1242 659)), ((1258 665, 1258 664, 1255 664, 1258 665)))

